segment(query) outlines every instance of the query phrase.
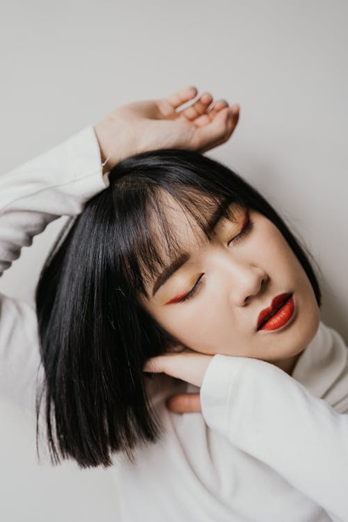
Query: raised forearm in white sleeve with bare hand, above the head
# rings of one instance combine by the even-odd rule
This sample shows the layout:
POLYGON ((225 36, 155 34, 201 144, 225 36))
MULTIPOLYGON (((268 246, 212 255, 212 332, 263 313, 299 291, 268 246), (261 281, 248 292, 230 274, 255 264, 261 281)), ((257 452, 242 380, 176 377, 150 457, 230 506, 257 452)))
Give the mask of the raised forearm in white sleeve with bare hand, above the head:
POLYGON ((157 148, 203 151, 226 141, 237 125, 239 106, 213 103, 208 93, 196 95, 196 88, 189 87, 163 99, 122 106, 94 127, 1 175, 0 274, 48 223, 79 214, 86 200, 108 185, 107 173, 121 159, 157 148), (190 100, 191 106, 180 111, 190 100))

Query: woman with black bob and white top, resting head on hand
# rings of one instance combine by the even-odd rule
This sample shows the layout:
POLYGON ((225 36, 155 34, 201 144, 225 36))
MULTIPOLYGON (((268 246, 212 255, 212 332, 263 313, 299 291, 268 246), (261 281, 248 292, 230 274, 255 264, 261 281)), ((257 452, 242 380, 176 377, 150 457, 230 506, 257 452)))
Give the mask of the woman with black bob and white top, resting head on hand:
MULTIPOLYGON (((205 129, 207 137, 218 118, 224 130, 193 148, 228 139, 237 111, 221 102, 210 114, 202 100, 194 107, 197 126, 187 122, 188 113, 183 116, 193 134, 205 129)), ((116 120, 126 141, 127 110, 121 109, 116 120)), ((110 120, 95 127, 103 160, 112 157, 109 138, 105 146, 110 120)), ((129 120, 135 129, 134 118, 129 120)), ((319 325, 313 269, 274 209, 227 168, 179 150, 124 159, 154 145, 182 145, 141 143, 155 123, 143 120, 136 150, 122 143, 127 152, 114 156, 102 193, 96 150, 90 146, 77 153, 87 133, 70 141, 68 151, 77 169, 81 158, 88 162, 90 174, 81 176, 83 167, 72 173, 67 168, 58 189, 52 176, 46 192, 53 200, 42 197, 40 185, 29 196, 20 193, 18 180, 33 186, 30 166, 3 180, 10 196, 17 196, 3 212, 12 259, 13 238, 17 244, 31 241, 24 215, 33 235, 59 209, 77 215, 88 200, 42 272, 36 296, 40 341, 35 314, 3 299, 4 363, 21 377, 18 389, 9 384, 10 393, 19 397, 24 376, 33 379, 20 360, 24 336, 18 321, 24 317, 28 346, 40 344, 45 368, 42 425, 53 459, 61 454, 80 466, 113 464, 127 521, 342 519, 348 513, 343 474, 348 427, 342 415, 348 411, 347 347, 337 333, 319 325), (173 257, 178 260, 169 270, 173 257), (275 311, 268 310, 270 299, 280 310, 268 319, 275 311), (163 354, 177 350, 182 353, 163 354), (323 370, 333 355, 335 362, 323 370), (163 374, 143 381, 148 358, 145 370, 181 381, 163 374), (313 395, 301 385, 307 375, 313 395), (169 395, 192 391, 185 382, 193 391, 201 386, 203 416, 166 410, 169 395), (324 396, 327 402, 317 398, 324 396), (318 459, 321 468, 314 470, 318 459), (319 471, 335 472, 335 488, 328 491, 331 483, 318 479, 319 471)), ((57 159, 65 160, 62 149, 40 164, 57 159)), ((33 368, 38 362, 33 349, 30 356, 33 368)), ((22 360, 28 365, 27 357, 22 360)))

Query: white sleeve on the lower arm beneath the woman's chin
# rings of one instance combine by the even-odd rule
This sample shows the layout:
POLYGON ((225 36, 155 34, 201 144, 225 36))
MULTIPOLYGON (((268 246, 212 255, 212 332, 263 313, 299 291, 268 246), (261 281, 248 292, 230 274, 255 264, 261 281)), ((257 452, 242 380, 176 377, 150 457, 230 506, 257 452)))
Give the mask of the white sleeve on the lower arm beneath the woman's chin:
POLYGON ((292 486, 348 520, 348 415, 280 368, 216 354, 203 379, 205 422, 292 486))

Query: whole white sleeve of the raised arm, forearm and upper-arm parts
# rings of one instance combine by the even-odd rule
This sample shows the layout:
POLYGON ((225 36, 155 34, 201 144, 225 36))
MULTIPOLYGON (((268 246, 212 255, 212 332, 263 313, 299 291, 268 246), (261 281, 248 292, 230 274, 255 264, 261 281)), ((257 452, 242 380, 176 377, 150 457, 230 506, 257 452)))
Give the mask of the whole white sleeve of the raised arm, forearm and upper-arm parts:
MULTIPOLYGON (((79 214, 108 185, 92 126, 0 175, 0 275, 48 223, 79 214)), ((35 310, 0 294, 0 393, 31 412, 39 363, 35 310)))

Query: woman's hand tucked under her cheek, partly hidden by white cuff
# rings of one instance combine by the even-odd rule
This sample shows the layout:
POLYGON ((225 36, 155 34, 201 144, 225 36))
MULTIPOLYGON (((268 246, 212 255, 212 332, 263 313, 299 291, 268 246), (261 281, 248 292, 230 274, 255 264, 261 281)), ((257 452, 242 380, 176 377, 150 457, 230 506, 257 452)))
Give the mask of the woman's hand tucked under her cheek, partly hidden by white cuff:
MULTIPOLYGON (((194 386, 202 386, 207 367, 212 361, 212 355, 200 354, 188 348, 178 353, 152 357, 146 361, 144 372, 165 373, 187 381, 194 386)), ((202 411, 199 393, 180 393, 169 397, 166 405, 176 413, 202 411)))

